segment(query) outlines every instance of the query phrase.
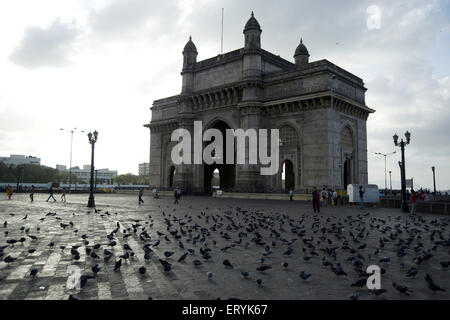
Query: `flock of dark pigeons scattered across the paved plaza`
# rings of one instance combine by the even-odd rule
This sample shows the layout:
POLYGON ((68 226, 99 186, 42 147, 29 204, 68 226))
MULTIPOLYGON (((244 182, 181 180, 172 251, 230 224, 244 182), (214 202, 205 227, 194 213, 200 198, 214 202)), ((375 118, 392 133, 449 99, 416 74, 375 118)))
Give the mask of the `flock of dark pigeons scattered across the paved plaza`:
MULTIPOLYGON (((276 211, 230 205, 202 210, 194 210, 190 206, 189 210, 185 210, 182 206, 167 205, 162 201, 156 213, 149 215, 147 212, 145 217, 134 216, 134 219, 128 220, 121 219, 120 214, 95 209, 94 212, 73 213, 73 219, 48 212, 39 217, 37 226, 30 226, 28 214, 18 218, 10 213, 7 218, 11 222, 5 219, 2 225, 4 237, 0 235, 0 258, 8 264, 0 270, 0 286, 4 280, 2 273, 14 267, 10 266, 16 260, 14 252, 26 246, 29 254, 34 253, 38 245, 43 246, 40 243, 44 238, 40 226, 56 224, 61 233, 75 234, 78 244, 68 246, 67 243, 49 242, 45 245, 48 250, 59 248, 69 251, 74 263, 80 260, 84 251, 86 268, 79 279, 81 290, 89 286, 90 281, 95 281, 99 273, 106 272, 105 265, 114 265, 113 272, 121 272, 124 264, 136 261, 141 264, 137 269, 141 275, 148 272, 148 264, 158 264, 162 274, 176 274, 177 270, 189 264, 194 268, 206 266, 206 269, 211 263, 216 266, 220 264, 221 268, 236 272, 236 277, 242 281, 256 279, 253 280, 255 286, 264 287, 267 273, 288 270, 292 267, 289 259, 298 259, 303 266, 295 270, 298 281, 313 282, 318 277, 315 275, 317 267, 311 264, 314 261, 325 272, 347 279, 347 285, 355 290, 348 296, 351 300, 359 299, 364 292, 367 292, 366 297, 376 297, 389 290, 397 291, 398 298, 414 297, 414 290, 403 284, 405 279, 422 281, 424 290, 448 298, 448 283, 438 283, 439 279, 433 279, 429 271, 439 269, 440 272, 448 272, 450 219, 447 217, 405 217, 400 213, 380 217, 369 212, 345 216, 300 212, 292 217, 276 211), (77 223, 73 222, 75 217, 84 214, 110 221, 114 228, 108 230, 100 242, 93 243, 93 236, 79 234, 77 223), (127 243, 128 239, 134 239, 133 243, 139 244, 139 250, 127 243), (160 245, 166 249, 160 248, 160 245), (237 259, 233 257, 236 257, 238 248, 248 250, 258 259, 248 261, 245 268, 242 263, 236 265, 234 260, 237 259), (271 263, 275 254, 282 257, 281 264, 271 263), (224 259, 224 256, 227 258, 224 259), (437 259, 437 256, 440 258, 437 259), (371 276, 366 273, 367 266, 379 265, 383 276, 389 272, 391 263, 405 270, 403 277, 390 285, 384 283, 382 289, 367 289, 367 278, 371 276), (431 264, 433 268, 426 267, 431 264), (253 275, 255 277, 251 277, 253 275)), ((238 260, 242 261, 242 257, 238 260)), ((28 277, 37 277, 39 272, 38 268, 31 268, 28 277)), ((211 270, 206 270, 204 276, 207 279, 215 277, 211 270)), ((77 298, 70 295, 69 299, 77 298)))

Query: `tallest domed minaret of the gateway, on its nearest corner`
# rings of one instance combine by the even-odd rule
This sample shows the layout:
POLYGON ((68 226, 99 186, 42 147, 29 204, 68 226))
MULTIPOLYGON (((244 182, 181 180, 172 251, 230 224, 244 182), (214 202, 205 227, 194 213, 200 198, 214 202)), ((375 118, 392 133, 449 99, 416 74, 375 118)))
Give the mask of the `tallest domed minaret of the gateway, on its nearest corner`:
POLYGON ((261 32, 261 27, 252 11, 252 16, 244 28, 244 80, 247 78, 260 78, 262 75, 261 32))

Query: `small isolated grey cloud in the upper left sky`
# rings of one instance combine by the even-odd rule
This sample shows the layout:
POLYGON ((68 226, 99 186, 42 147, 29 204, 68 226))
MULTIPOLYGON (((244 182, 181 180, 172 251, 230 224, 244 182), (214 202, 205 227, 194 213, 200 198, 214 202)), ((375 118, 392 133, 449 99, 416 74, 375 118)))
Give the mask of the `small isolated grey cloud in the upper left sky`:
POLYGON ((28 69, 67 65, 78 35, 79 30, 59 20, 45 29, 28 27, 10 59, 28 69))

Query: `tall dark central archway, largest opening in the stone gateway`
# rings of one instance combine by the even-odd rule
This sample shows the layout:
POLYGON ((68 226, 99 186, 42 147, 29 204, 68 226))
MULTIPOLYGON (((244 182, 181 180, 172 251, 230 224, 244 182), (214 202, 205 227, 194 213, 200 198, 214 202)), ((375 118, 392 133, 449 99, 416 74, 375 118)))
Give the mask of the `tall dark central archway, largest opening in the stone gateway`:
MULTIPOLYGON (((231 129, 229 125, 227 125, 224 121, 218 120, 208 129, 218 129, 222 133, 223 137, 223 164, 213 163, 211 165, 204 164, 204 190, 205 192, 213 191, 213 177, 214 172, 217 170, 219 175, 219 187, 222 190, 231 190, 234 187, 235 183, 235 172, 236 166, 234 164, 226 164, 226 130, 231 129)), ((214 140, 213 140, 214 141, 214 140)), ((213 141, 206 142, 205 147, 212 143, 213 141)), ((214 156, 214 155, 213 155, 214 156)), ((235 156, 236 157, 236 156, 235 156)), ((236 160, 236 159, 235 159, 236 160)), ((236 161, 234 161, 236 163, 236 161)))

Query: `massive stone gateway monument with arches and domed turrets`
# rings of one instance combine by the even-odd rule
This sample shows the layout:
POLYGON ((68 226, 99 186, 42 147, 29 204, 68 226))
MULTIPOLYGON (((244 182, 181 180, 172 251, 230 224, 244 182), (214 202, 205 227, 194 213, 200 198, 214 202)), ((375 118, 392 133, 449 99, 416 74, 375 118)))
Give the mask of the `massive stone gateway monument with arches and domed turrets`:
POLYGON ((367 184, 366 121, 374 110, 365 104, 363 80, 328 60, 309 61, 302 40, 292 50, 294 62, 274 55, 261 48, 261 32, 252 12, 244 47, 203 61, 189 38, 181 93, 154 101, 145 125, 151 132, 150 188, 210 193, 217 170, 220 188, 233 192, 367 184), (203 132, 216 128, 224 137, 226 129, 279 129, 278 173, 261 175, 259 165, 249 164, 175 165, 171 151, 178 141, 171 134, 184 128, 193 137, 194 121, 202 121, 203 132))

